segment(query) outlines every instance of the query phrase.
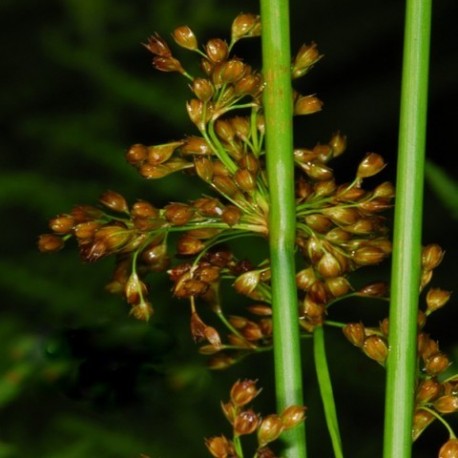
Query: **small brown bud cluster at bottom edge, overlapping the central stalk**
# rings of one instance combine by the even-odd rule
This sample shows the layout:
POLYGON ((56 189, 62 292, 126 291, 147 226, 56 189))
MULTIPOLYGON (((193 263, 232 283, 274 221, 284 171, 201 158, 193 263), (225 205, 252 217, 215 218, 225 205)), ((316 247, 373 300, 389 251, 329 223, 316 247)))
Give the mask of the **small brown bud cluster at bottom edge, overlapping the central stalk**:
POLYGON ((205 445, 216 458, 243 457, 241 437, 256 434, 256 458, 276 458, 268 444, 277 440, 283 431, 299 425, 305 420, 305 407, 289 406, 281 414, 262 417, 248 404, 260 393, 254 380, 238 380, 230 392, 230 400, 221 403, 226 419, 232 426, 232 439, 215 436, 206 439, 205 445))

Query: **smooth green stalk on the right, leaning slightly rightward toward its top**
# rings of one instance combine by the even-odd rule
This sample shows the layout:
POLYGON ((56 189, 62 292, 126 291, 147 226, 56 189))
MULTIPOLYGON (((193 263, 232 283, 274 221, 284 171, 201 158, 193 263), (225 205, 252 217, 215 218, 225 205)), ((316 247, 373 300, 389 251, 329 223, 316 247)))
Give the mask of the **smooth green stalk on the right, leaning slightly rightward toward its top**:
POLYGON ((430 27, 431 0, 407 0, 384 458, 411 456, 430 27))

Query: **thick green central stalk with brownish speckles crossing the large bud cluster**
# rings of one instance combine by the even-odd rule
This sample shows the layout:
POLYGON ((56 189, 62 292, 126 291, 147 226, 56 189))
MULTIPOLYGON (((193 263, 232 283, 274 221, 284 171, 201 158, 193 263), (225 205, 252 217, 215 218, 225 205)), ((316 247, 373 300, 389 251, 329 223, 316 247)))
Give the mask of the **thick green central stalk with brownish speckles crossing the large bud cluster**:
MULTIPOLYGON (((296 212, 288 1, 261 0, 261 21, 275 386, 281 411, 292 404, 303 404, 294 266, 296 212)), ((282 456, 306 457, 303 425, 287 431, 282 438, 285 439, 282 456)))

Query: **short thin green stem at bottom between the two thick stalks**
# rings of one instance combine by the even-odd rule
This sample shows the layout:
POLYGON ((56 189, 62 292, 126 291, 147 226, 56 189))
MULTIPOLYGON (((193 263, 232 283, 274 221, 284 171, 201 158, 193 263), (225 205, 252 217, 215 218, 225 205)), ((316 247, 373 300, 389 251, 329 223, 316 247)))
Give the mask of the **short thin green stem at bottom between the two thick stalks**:
POLYGON ((339 423, 332 392, 331 377, 329 376, 326 349, 324 346, 324 329, 322 326, 313 331, 313 353, 315 356, 316 375, 320 388, 321 400, 323 401, 326 425, 331 436, 332 448, 336 458, 343 458, 342 440, 340 439, 339 423))

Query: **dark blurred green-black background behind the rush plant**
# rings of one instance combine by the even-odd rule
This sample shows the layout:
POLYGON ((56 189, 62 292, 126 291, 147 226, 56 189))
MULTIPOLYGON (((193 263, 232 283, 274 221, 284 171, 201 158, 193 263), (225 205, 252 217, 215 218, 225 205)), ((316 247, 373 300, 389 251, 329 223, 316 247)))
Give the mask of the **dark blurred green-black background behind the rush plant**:
MULTIPOLYGON (((384 178, 394 179, 403 2, 292 1, 291 9, 293 50, 315 41, 325 55, 297 86, 325 103, 323 112, 297 122, 297 144, 311 147, 339 129, 349 147, 338 176, 351 176, 363 154, 376 151, 389 162, 384 178)), ((187 82, 155 72, 140 43, 182 24, 201 43, 227 37, 241 11, 257 12, 257 2, 0 3, 1 458, 207 456, 203 437, 229 433, 219 401, 238 377, 259 379, 265 389, 256 409, 273 411, 271 356, 209 372, 189 336, 188 308, 168 299, 165 276, 153 281, 156 314, 145 325, 105 293, 110 259, 82 265, 75 250, 36 250, 50 217, 95 203, 106 189, 157 204, 198 195, 189 177, 146 182, 125 163, 133 143, 195 133, 184 109, 187 82)), ((457 13, 455 0, 434 2, 427 142, 428 159, 455 182, 457 13)), ((237 48, 242 56, 258 51, 257 41, 237 48)), ((427 183, 423 238, 447 250, 433 286, 453 290, 458 197, 456 185, 444 191, 444 183, 427 183)), ((387 313, 380 304, 346 307, 348 320, 371 325, 387 313)), ((457 318, 452 298, 428 325, 452 360, 457 318)), ((331 456, 309 347, 305 342, 311 456, 331 456)), ((338 332, 329 333, 328 349, 344 448, 355 458, 381 456, 384 371, 338 332)), ((433 425, 415 456, 436 456, 445 440, 446 431, 433 425)))

